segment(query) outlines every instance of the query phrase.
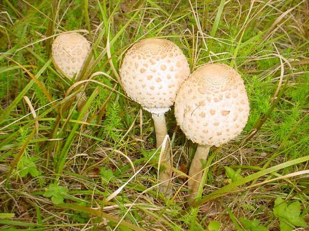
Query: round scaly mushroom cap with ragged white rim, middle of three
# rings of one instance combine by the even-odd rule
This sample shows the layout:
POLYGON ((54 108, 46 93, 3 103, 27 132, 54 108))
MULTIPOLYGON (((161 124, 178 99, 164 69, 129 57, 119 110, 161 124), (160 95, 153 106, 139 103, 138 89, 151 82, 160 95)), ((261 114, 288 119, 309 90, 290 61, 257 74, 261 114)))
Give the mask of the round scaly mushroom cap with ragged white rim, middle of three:
POLYGON ((189 73, 189 64, 180 48, 162 38, 134 44, 120 69, 127 95, 151 113, 164 113, 174 104, 189 73))

